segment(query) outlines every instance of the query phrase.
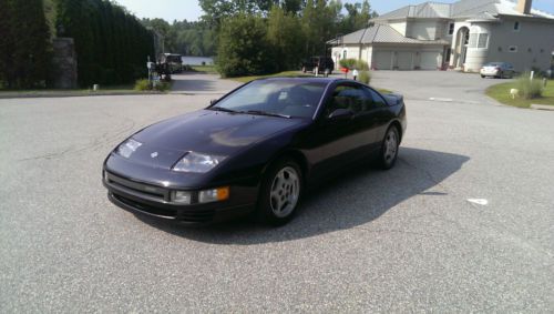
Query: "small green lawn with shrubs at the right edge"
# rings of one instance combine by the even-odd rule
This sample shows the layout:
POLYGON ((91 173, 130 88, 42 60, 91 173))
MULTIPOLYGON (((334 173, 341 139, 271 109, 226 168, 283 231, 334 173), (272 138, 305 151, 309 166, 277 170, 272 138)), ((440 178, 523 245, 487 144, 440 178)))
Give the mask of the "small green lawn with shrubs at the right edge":
POLYGON ((548 81, 548 83, 546 84, 546 89, 543 91, 542 98, 523 99, 516 97, 515 99, 512 99, 512 95, 510 94, 511 89, 515 89, 515 82, 492 85, 486 89, 486 95, 495 99, 503 104, 520 108, 530 108, 531 104, 554 105, 554 80, 548 81))

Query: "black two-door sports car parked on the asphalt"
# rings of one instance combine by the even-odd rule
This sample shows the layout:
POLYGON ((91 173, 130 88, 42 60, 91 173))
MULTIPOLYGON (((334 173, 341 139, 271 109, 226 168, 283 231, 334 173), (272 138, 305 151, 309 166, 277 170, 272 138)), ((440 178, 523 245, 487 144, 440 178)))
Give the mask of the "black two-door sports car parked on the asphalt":
POLYGON ((103 183, 132 212, 187 223, 254 213, 279 225, 310 182, 375 156, 392 168, 406 125, 401 95, 356 81, 256 80, 125 140, 103 183))

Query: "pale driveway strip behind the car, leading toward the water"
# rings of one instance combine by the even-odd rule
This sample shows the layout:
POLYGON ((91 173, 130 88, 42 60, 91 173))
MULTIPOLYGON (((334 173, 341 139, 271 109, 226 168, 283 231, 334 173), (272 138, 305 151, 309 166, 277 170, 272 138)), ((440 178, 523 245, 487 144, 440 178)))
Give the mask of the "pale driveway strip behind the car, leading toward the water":
POLYGON ((216 74, 186 72, 172 78, 172 94, 225 94, 240 85, 240 82, 224 80, 216 74))

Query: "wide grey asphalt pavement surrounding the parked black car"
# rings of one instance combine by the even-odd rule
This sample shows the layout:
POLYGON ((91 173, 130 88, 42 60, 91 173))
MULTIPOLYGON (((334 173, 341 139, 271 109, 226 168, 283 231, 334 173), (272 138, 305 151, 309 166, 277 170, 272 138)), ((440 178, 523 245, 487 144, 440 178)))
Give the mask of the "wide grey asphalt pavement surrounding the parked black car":
POLYGON ((407 91, 397 168, 328 183, 280 229, 107 202, 109 151, 212 95, 0 100, 1 312, 552 312, 554 112, 458 73, 373 82, 407 91))

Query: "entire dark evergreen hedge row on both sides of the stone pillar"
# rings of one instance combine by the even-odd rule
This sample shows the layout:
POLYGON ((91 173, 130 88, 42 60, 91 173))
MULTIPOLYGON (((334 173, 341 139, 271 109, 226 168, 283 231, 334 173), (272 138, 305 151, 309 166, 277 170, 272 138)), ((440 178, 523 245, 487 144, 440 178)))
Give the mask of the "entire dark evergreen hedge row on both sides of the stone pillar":
POLYGON ((146 75, 154 39, 125 8, 109 0, 0 1, 0 87, 43 88, 52 38, 73 38, 81 87, 129 83, 146 75))

